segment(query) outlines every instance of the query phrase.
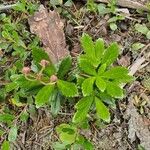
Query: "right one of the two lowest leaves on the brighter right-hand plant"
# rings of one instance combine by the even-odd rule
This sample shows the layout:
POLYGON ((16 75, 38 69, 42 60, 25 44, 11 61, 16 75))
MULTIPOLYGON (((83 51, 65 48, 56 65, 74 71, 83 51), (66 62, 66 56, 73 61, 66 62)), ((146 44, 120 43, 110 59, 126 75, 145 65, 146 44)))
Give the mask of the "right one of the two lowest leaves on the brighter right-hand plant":
POLYGON ((110 122, 110 113, 109 113, 109 109, 103 104, 103 102, 95 97, 95 105, 96 105, 96 112, 97 112, 97 116, 106 121, 106 122, 110 122))

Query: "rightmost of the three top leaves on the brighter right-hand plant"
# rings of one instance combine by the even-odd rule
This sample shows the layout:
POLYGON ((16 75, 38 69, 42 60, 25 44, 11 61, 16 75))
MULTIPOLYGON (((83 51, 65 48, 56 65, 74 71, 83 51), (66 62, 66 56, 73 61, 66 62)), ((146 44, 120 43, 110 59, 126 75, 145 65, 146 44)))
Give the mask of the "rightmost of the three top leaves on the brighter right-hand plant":
POLYGON ((102 64, 106 63, 107 66, 111 65, 119 55, 119 47, 117 43, 112 43, 105 51, 102 64))

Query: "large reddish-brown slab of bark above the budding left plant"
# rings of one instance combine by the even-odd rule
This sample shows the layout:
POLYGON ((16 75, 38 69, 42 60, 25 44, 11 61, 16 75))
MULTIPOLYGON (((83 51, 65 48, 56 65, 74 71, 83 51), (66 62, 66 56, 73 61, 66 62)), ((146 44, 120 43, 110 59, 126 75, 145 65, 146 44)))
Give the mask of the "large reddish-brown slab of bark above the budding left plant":
POLYGON ((64 24, 55 10, 48 12, 41 5, 39 10, 28 19, 28 22, 31 32, 40 38, 53 64, 69 55, 63 32, 64 24))

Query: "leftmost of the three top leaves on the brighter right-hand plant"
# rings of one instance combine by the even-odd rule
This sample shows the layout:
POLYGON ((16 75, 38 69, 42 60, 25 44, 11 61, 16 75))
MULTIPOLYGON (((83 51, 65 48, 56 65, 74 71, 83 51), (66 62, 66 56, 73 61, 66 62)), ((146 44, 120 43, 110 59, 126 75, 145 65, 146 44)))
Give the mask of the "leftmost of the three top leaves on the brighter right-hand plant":
POLYGON ((83 33, 81 37, 81 45, 83 47, 84 52, 91 58, 95 57, 95 51, 94 51, 94 42, 92 41, 92 38, 86 34, 83 33))

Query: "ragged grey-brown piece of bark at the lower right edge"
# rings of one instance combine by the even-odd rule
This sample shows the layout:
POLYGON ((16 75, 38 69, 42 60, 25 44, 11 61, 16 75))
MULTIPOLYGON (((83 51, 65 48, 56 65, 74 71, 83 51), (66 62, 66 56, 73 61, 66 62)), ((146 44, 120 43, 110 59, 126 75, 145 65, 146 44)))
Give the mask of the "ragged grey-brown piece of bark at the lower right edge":
POLYGON ((126 110, 126 119, 128 119, 128 138, 131 142, 140 140, 140 144, 146 149, 150 149, 150 120, 142 117, 136 110, 132 98, 129 98, 129 104, 126 110))

